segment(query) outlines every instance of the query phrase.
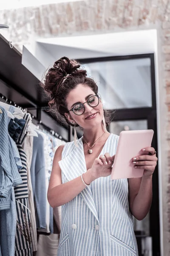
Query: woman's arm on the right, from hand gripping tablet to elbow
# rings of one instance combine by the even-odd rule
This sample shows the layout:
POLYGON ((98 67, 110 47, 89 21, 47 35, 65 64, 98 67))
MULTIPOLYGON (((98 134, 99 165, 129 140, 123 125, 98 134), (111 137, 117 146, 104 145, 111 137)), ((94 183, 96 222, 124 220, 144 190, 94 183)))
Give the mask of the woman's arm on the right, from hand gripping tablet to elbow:
POLYGON ((128 179, 129 183, 129 206, 133 216, 142 220, 146 217, 152 203, 152 175, 156 167, 157 157, 154 148, 146 148, 146 155, 136 157, 134 165, 136 171, 144 169, 142 178, 128 179), (153 155, 147 155, 147 153, 153 155))

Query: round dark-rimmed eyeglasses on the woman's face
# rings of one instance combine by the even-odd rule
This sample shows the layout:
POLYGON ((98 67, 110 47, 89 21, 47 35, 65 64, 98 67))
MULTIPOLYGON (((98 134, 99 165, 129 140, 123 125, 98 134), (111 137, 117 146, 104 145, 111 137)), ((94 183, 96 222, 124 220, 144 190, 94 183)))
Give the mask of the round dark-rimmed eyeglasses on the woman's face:
MULTIPOLYGON (((94 108, 99 105, 99 99, 100 99, 100 96, 96 94, 96 95, 90 96, 88 98, 88 101, 85 103, 87 103, 90 107, 94 108)), ((69 111, 73 111, 74 114, 80 116, 85 112, 85 106, 84 106, 85 103, 79 103, 75 105, 73 108, 71 108, 71 110, 69 111)))

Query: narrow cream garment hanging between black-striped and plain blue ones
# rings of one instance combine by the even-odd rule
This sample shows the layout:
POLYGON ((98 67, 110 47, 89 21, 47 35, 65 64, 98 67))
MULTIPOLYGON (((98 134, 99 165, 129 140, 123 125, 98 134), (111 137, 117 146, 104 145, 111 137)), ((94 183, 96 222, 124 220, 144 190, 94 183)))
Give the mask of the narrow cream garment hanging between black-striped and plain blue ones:
POLYGON ((33 151, 33 136, 26 136, 23 142, 23 150, 27 156, 26 168, 27 168, 27 180, 28 180, 28 203, 31 215, 31 230, 32 230, 32 251, 37 251, 37 227, 35 218, 35 207, 34 207, 34 197, 31 184, 31 161, 32 161, 32 151, 33 151))

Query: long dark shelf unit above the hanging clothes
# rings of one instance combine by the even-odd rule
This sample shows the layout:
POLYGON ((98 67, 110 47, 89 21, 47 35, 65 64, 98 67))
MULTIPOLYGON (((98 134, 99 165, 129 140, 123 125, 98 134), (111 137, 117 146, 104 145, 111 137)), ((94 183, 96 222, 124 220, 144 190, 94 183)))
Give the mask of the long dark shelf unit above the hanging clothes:
POLYGON ((22 64, 22 54, 14 46, 11 49, 3 35, 0 35, 0 93, 21 109, 27 109, 34 116, 33 122, 42 123, 65 141, 71 141, 69 125, 60 124, 46 111, 48 99, 40 81, 22 64))

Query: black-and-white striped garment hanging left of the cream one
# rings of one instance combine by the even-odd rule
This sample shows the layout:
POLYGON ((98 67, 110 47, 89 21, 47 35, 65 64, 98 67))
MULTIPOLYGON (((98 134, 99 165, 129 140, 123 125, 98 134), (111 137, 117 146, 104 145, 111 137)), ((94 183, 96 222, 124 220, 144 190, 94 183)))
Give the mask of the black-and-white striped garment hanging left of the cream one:
POLYGON ((31 217, 28 204, 28 182, 26 154, 21 144, 17 144, 23 168, 19 171, 23 184, 14 188, 17 208, 17 232, 15 237, 15 256, 32 256, 31 217))

